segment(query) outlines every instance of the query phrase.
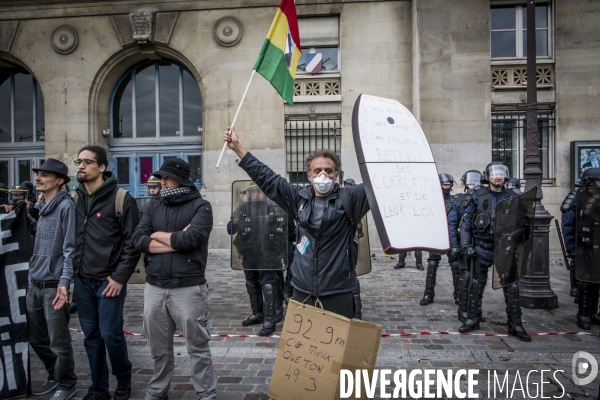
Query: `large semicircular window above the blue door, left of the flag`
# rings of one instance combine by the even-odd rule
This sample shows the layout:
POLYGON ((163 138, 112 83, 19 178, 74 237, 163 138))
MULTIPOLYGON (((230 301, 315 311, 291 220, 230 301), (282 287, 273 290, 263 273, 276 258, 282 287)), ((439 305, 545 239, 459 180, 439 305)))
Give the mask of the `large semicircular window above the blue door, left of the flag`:
POLYGON ((115 139, 202 135, 202 97, 196 79, 173 61, 138 64, 115 88, 111 104, 115 139))

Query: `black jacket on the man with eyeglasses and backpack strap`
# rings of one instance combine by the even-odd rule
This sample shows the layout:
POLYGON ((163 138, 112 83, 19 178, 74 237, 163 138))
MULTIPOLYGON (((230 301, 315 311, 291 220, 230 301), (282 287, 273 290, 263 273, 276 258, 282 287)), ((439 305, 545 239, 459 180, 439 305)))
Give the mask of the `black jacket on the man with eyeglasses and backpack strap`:
POLYGON ((121 221, 115 214, 117 180, 107 171, 105 182, 94 193, 86 210, 89 195, 77 190, 77 230, 75 250, 76 274, 95 279, 127 283, 135 270, 140 253, 133 246, 133 231, 140 222, 135 199, 125 196, 121 221))

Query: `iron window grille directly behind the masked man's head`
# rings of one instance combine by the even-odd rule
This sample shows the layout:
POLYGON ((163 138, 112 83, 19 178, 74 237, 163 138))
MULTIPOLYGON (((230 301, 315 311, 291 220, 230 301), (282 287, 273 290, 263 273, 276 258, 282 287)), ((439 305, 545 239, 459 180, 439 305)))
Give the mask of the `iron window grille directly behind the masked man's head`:
POLYGON ((285 122, 285 154, 288 180, 308 184, 304 161, 317 149, 335 153, 342 147, 340 120, 291 120, 285 122))

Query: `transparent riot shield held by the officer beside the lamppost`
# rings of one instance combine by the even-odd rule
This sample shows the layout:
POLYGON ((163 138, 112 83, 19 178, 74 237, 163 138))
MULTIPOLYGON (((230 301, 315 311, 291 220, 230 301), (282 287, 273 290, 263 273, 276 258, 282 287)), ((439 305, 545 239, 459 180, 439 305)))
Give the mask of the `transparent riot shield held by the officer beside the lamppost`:
POLYGON ((529 270, 533 248, 535 196, 533 188, 498 202, 494 221, 494 273, 492 287, 499 289, 529 270))

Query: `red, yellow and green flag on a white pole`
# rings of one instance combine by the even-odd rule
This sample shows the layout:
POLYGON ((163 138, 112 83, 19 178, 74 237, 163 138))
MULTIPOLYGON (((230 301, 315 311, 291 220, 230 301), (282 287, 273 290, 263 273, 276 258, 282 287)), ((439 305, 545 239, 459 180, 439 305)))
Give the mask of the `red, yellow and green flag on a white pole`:
POLYGON ((254 69, 271 82, 289 104, 294 103, 294 80, 300 53, 296 4, 294 0, 281 0, 254 69))

